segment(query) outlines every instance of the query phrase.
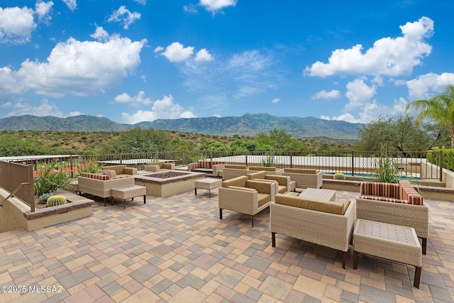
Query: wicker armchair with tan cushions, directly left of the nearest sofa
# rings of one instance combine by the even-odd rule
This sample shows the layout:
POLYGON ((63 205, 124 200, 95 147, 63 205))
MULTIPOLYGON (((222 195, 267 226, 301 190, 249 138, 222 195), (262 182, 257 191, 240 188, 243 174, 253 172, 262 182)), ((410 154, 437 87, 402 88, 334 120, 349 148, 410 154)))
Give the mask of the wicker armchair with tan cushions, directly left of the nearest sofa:
POLYGON ((222 219, 222 210, 228 209, 249 214, 254 227, 254 215, 270 206, 275 199, 275 185, 273 182, 248 180, 248 176, 240 176, 223 181, 218 189, 219 219, 222 219))

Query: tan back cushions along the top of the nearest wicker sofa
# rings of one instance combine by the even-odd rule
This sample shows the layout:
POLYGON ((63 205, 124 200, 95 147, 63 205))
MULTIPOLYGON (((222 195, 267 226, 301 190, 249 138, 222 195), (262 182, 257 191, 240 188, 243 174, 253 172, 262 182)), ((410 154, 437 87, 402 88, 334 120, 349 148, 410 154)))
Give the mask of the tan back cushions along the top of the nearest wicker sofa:
POLYGON ((283 204, 287 206, 299 207, 301 209, 310 209, 313 211, 323 211, 330 214, 345 214, 345 211, 350 205, 350 200, 340 199, 336 202, 319 201, 311 199, 303 199, 301 197, 294 197, 293 195, 277 194, 276 204, 283 204))

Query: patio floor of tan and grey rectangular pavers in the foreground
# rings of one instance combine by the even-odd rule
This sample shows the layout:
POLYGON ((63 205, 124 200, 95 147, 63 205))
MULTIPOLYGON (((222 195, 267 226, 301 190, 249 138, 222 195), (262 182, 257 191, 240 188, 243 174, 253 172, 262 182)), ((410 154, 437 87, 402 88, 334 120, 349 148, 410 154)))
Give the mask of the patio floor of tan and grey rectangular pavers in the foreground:
MULTIPOLYGON (((356 196, 336 191, 338 199, 356 196)), ((336 250, 282 235, 272 248, 267 209, 254 216, 254 227, 250 216, 233 211, 220 220, 218 189, 211 198, 194 196, 192 190, 148 196, 147 204, 140 199, 126 202, 125 210, 120 200, 104 207, 99 199, 92 216, 1 233, 0 302, 454 299, 453 202, 424 200, 429 237, 416 289, 412 266, 360 254, 358 270, 353 270, 353 255, 343 270, 336 250), (4 292, 14 287, 26 292, 4 292)))

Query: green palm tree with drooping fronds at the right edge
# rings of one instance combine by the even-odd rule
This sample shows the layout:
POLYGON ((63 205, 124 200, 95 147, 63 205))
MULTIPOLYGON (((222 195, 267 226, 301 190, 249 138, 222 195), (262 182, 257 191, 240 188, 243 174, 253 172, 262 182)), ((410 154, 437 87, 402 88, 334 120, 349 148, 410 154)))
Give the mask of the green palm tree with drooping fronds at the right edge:
POLYGON ((421 110, 416 122, 430 120, 441 126, 450 126, 451 148, 454 148, 454 86, 448 85, 443 94, 431 99, 412 101, 406 106, 409 109, 421 110))

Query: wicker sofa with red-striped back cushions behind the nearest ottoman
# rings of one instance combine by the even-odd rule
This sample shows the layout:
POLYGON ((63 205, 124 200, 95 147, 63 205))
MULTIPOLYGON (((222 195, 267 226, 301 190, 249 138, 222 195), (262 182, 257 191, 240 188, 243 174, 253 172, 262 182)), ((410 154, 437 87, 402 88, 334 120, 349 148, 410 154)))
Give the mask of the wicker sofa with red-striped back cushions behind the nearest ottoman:
POLYGON ((409 180, 400 180, 399 184, 361 182, 356 215, 358 219, 414 228, 426 254, 428 207, 423 205, 423 197, 409 180))

